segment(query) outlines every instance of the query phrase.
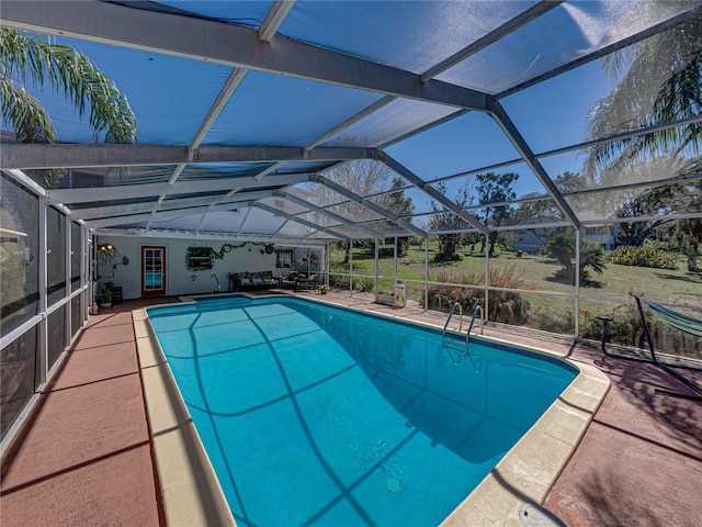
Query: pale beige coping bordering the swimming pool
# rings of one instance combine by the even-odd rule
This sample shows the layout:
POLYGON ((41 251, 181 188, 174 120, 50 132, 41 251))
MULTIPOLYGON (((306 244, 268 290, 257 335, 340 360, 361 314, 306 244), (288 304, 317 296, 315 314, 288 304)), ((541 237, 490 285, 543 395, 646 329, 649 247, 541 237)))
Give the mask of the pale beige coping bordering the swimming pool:
MULTIPOLYGON (((317 299, 304 300, 319 302, 317 299)), ((353 310, 353 307, 335 304, 333 302, 321 301, 320 303, 353 310)), ((185 434, 185 439, 180 441, 163 441, 159 439, 158 446, 157 437, 154 433, 151 436, 167 523, 169 525, 236 525, 214 469, 204 451, 192 419, 179 395, 170 368, 156 340, 156 335, 148 322, 146 309, 133 313, 137 352, 139 354, 145 399, 147 400, 149 428, 151 430, 159 428, 168 430, 167 436, 176 431, 185 434), (150 371, 154 369, 157 370, 157 373, 150 371), (165 381, 167 381, 167 384, 165 384, 165 381), (159 383, 161 384, 160 388, 159 383), (159 393, 166 392, 167 389, 171 392, 170 395, 159 393), (147 395, 147 392, 150 392, 150 394, 147 395), (166 405, 170 404, 183 413, 186 416, 186 421, 177 422, 174 426, 171 424, 170 428, 163 428, 162 425, 159 426, 158 424, 154 426, 151 424, 152 416, 149 399, 152 399, 154 408, 168 411, 169 408, 166 405), (192 444, 193 447, 196 447, 195 451, 186 453, 188 449, 183 448, 183 442, 192 444), (174 459, 174 457, 178 458, 174 459), (161 467, 159 459, 162 460, 161 463, 165 463, 166 459, 169 462, 167 466, 161 467), (196 474, 193 462, 203 467, 204 473, 196 474), (180 470, 184 470, 184 475, 179 473, 180 470), (199 487, 195 484, 200 483, 202 485, 203 479, 206 480, 205 489, 212 496, 203 496, 203 487, 199 487), (217 514, 225 515, 223 520, 213 522, 211 511, 207 511, 213 505, 204 504, 203 497, 216 502, 215 511, 217 511, 217 514), (197 511, 201 512, 200 520, 191 517, 193 512, 197 511), (183 513, 186 515, 181 516, 183 513), (203 514, 206 516, 202 516, 203 514)), ((387 316, 373 312, 370 314, 403 319, 407 324, 428 326, 434 329, 440 327, 431 323, 412 321, 397 315, 387 316)), ((514 343, 491 336, 482 336, 480 338, 511 347, 516 346, 514 343)), ((444 527, 467 525, 471 527, 494 525, 521 527, 523 524, 519 517, 519 508, 524 503, 542 504, 544 502, 551 487, 555 484, 558 475, 580 444, 610 389, 609 378, 593 366, 568 360, 535 346, 520 344, 519 347, 563 360, 578 369, 579 373, 526 434, 505 455, 495 469, 441 523, 444 527), (547 452, 546 456, 544 456, 545 452, 547 452)), ((168 414, 169 412, 165 413, 168 414)), ((173 412, 170 411, 170 413, 172 414, 173 412)))

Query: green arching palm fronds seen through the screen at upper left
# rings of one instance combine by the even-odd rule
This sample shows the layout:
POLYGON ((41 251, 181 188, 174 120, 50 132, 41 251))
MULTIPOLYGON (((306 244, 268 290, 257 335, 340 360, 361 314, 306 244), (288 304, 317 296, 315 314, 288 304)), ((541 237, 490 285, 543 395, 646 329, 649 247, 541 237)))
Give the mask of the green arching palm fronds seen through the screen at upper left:
POLYGON ((56 143, 56 132, 42 104, 24 86, 50 85, 64 92, 80 116, 89 112, 93 141, 136 143, 136 117, 126 97, 92 61, 49 37, 0 27, 0 103, 2 119, 21 143, 56 143))

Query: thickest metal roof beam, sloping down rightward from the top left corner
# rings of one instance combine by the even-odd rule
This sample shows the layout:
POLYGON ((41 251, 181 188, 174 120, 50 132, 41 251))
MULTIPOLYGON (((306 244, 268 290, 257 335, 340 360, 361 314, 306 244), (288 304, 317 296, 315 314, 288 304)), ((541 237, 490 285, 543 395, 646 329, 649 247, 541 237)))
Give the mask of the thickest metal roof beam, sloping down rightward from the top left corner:
POLYGON ((410 71, 282 36, 262 45, 257 30, 195 16, 95 1, 3 0, 2 23, 36 33, 486 110, 486 94, 476 90, 438 80, 422 82, 410 71))

